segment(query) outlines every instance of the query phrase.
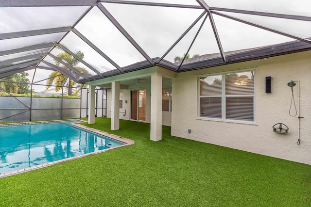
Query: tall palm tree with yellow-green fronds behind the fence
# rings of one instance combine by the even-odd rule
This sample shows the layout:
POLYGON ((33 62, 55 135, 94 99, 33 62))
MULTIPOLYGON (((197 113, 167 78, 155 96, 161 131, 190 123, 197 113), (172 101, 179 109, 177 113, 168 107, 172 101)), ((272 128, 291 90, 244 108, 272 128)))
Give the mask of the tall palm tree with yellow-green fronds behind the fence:
MULTIPOLYGON (((60 49, 59 47, 57 47, 57 48, 60 49)), ((75 52, 75 54, 81 59, 84 58, 84 53, 80 50, 75 52)), ((80 63, 80 61, 78 61, 76 58, 72 57, 66 51, 63 50, 63 52, 59 53, 56 57, 61 59, 65 63, 69 64, 71 67, 78 70, 79 72, 88 74, 88 71, 86 70, 86 68, 77 66, 80 63)), ((54 60, 54 62, 57 66, 60 66, 60 64, 61 64, 60 62, 58 62, 56 60, 54 60)), ((65 68, 66 70, 69 70, 69 68, 67 68, 64 65, 62 65, 61 67, 65 68)), ((76 84, 75 81, 67 79, 67 77, 65 75, 61 75, 61 73, 58 71, 53 71, 49 75, 49 78, 50 79, 47 80, 47 85, 53 85, 53 84, 56 85, 56 87, 55 87, 56 92, 61 90, 63 85, 67 86, 68 87, 68 96, 71 96, 71 94, 72 94, 72 88, 71 87, 76 84)), ((51 86, 47 86, 46 90, 48 90, 49 88, 51 88, 51 86)))

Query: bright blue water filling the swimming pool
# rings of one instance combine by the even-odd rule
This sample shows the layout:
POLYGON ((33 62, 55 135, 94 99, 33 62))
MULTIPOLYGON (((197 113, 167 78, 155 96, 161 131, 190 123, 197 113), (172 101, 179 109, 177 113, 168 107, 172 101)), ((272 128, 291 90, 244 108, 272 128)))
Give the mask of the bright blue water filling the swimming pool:
POLYGON ((0 126, 0 174, 122 145, 68 122, 0 126))

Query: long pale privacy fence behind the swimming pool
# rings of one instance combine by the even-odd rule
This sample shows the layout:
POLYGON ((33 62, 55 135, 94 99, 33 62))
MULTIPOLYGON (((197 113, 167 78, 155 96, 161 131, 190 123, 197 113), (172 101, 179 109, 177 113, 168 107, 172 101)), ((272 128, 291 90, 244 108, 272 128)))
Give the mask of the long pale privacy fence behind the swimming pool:
MULTIPOLYGON (((10 93, 6 96, 2 94, 0 122, 87 117, 88 89, 73 89, 77 90, 75 98, 68 98, 69 96, 64 94, 42 96, 31 93, 28 97, 19 97, 10 93)), ((95 114, 106 116, 106 90, 104 89, 96 89, 95 114)))

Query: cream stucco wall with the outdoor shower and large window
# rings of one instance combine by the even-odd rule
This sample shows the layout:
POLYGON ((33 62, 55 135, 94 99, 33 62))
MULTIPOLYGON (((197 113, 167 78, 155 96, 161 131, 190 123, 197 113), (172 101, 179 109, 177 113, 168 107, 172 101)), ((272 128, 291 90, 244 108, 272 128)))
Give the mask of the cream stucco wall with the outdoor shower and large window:
MULTIPOLYGON (((178 73, 172 81, 172 135, 217 144, 266 156, 311 164, 311 52, 299 52, 207 69, 178 73), (226 72, 255 71, 254 122, 210 120, 199 117, 199 77, 226 72), (265 93, 265 77, 272 77, 270 94, 265 93), (289 109, 292 91, 287 83, 300 81, 300 140, 298 115, 289 109), (288 134, 273 132, 284 123, 288 134), (191 129, 191 132, 188 132, 191 129)), ((294 87, 298 107, 298 86, 294 87)))

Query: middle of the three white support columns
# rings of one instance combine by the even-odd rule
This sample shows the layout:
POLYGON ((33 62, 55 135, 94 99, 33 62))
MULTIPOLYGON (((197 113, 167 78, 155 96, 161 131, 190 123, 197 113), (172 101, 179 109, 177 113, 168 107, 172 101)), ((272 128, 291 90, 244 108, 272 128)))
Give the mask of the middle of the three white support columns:
POLYGON ((111 83, 111 130, 120 128, 120 82, 111 83))

